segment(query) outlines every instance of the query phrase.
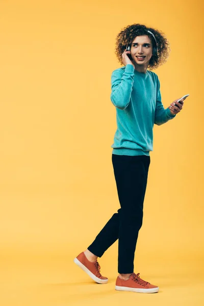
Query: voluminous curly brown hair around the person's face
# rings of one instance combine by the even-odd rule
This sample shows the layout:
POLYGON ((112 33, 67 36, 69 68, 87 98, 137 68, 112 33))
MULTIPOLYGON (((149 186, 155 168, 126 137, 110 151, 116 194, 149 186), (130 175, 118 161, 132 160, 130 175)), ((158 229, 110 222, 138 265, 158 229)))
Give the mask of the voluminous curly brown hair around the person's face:
POLYGON ((144 24, 134 23, 132 25, 127 25, 127 27, 123 28, 116 37, 115 54, 118 59, 118 62, 121 65, 123 65, 122 53, 126 49, 126 45, 131 44, 136 36, 147 35, 151 40, 152 46, 156 47, 156 41, 154 37, 145 30, 149 30, 155 35, 158 48, 157 56, 152 55, 149 60, 149 70, 156 69, 160 65, 166 63, 171 49, 169 46, 170 43, 166 39, 165 34, 162 31, 158 31, 156 29, 147 28, 144 24))

